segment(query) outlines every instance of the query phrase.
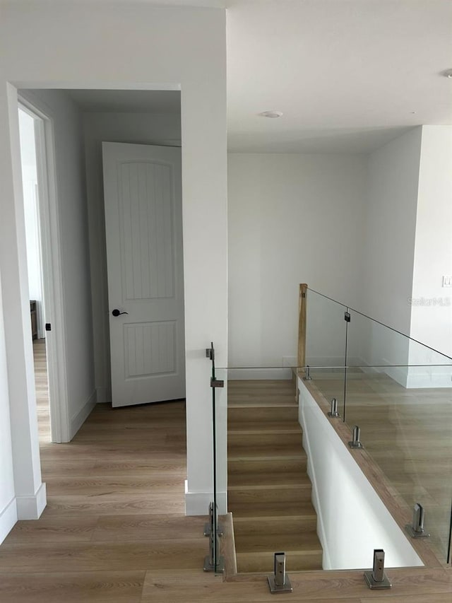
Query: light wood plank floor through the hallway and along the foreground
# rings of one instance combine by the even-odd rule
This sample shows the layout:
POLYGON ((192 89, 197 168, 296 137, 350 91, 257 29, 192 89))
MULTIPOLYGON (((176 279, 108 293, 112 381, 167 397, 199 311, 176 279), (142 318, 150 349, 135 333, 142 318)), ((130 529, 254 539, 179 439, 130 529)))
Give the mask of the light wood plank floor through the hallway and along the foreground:
MULTIPOLYGON (((203 518, 184 517, 182 404, 97 409, 69 445, 49 444, 44 406, 49 506, 0 546, 1 603, 274 602, 261 575, 223 582, 201 570, 203 518)), ((286 596, 294 603, 452 601, 445 568, 391 570, 390 577, 391 591, 374 592, 358 571, 292 573, 294 592, 286 596)))

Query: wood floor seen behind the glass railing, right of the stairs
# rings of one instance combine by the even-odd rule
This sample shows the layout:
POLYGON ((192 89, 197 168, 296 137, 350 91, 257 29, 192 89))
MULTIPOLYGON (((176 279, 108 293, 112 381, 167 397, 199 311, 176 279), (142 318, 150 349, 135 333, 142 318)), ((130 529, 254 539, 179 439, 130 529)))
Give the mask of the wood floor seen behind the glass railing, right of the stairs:
MULTIPOLYGON (((343 415, 343 373, 317 373, 326 399, 337 397, 343 415)), ((446 561, 452 504, 452 390, 405 389, 386 373, 347 375, 345 414, 388 482, 412 509, 425 510, 425 528, 446 561)))

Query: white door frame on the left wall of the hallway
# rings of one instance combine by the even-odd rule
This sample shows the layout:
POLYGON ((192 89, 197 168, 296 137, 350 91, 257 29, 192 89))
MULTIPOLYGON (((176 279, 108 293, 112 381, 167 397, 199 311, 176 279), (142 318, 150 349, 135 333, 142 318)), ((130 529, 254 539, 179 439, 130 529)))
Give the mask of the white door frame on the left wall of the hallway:
POLYGON ((46 332, 51 437, 55 443, 69 442, 71 431, 53 122, 44 107, 38 107, 34 99, 30 100, 23 93, 18 95, 18 106, 35 119, 44 320, 52 325, 52 330, 46 332))

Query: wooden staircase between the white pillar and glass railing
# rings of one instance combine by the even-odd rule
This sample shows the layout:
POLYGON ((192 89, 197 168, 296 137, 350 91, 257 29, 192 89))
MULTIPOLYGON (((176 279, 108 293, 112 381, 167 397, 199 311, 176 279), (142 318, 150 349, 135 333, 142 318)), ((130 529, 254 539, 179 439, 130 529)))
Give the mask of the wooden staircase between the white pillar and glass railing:
POLYGON ((239 573, 321 569, 292 381, 228 382, 228 501, 239 573))

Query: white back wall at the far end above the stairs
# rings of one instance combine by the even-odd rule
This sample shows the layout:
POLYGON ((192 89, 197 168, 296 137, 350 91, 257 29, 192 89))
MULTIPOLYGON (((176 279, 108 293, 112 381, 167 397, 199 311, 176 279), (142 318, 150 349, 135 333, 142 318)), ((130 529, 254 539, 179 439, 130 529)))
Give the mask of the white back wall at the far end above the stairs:
MULTIPOLYGON (((299 283, 357 302, 365 176, 363 156, 228 156, 230 366, 295 357, 299 283)), ((340 321, 331 339, 319 318, 311 356, 341 356, 343 308, 308 303, 340 321)))

